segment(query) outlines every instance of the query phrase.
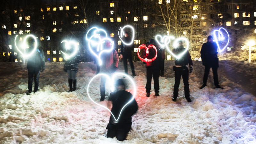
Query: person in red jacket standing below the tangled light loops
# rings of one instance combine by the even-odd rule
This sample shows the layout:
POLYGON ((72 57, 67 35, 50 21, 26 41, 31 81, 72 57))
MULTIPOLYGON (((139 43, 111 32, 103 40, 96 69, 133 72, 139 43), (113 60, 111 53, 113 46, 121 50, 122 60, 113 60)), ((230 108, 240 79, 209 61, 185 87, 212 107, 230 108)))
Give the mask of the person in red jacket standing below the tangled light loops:
MULTIPOLYGON (((105 48, 108 49, 108 47, 111 46, 110 42, 105 42, 105 48)), ((103 53, 101 55, 102 64, 100 66, 100 73, 105 73, 108 75, 111 75, 111 73, 114 73, 116 69, 118 68, 118 62, 119 57, 116 52, 116 50, 113 50, 109 53, 103 53)), ((105 83, 106 83, 106 77, 101 76, 100 79, 100 101, 105 100, 105 83)))

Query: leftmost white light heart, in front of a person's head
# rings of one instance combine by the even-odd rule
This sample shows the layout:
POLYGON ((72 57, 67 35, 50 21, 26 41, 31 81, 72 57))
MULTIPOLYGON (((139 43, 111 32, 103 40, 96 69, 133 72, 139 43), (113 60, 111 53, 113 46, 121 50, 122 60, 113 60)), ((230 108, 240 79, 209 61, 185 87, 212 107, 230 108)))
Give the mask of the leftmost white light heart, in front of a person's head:
POLYGON ((23 57, 24 59, 30 57, 30 56, 36 51, 36 48, 37 48, 37 39, 36 39, 36 37, 35 37, 34 35, 27 35, 27 36, 25 36, 25 38, 23 39, 23 42, 22 42, 22 44, 21 44, 21 48, 23 49, 23 52, 20 50, 20 48, 19 48, 19 47, 17 46, 17 44, 16 44, 16 38, 17 38, 17 37, 18 37, 18 35, 15 36, 15 39, 14 39, 15 47, 16 47, 17 50, 21 53, 21 55, 22 55, 22 57, 23 57), (32 38, 34 39, 34 41, 35 41, 35 44, 33 45, 34 48, 33 48, 33 50, 32 50, 30 53, 26 53, 26 48, 28 47, 28 44, 27 44, 27 38, 28 38, 28 37, 32 37, 32 38))

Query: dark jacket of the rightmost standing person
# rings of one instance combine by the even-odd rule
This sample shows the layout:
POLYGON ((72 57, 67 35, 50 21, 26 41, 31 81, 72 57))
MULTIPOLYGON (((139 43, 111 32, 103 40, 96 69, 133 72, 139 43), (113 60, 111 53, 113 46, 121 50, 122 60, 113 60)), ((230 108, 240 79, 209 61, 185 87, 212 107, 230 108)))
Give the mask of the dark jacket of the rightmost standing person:
POLYGON ((217 49, 218 49, 218 46, 215 42, 213 43, 207 42, 203 44, 201 49, 201 58, 202 58, 203 65, 219 66, 217 49))

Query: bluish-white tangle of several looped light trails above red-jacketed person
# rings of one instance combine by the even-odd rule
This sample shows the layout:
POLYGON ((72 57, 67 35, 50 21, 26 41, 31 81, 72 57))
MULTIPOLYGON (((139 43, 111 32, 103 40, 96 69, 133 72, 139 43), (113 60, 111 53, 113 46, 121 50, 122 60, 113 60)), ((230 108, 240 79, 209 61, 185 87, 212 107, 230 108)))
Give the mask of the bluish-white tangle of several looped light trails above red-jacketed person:
POLYGON ((90 52, 98 59, 99 65, 102 65, 102 60, 100 58, 100 56, 103 53, 109 53, 112 52, 114 49, 114 43, 113 41, 108 38, 107 32, 104 29, 99 29, 97 27, 92 27, 88 30, 88 32, 86 33, 85 39, 88 41, 88 48, 90 50, 90 52), (90 33, 90 31, 94 29, 94 31, 92 31, 92 35, 90 38, 88 38, 88 34, 90 33), (100 36, 100 33, 104 33, 105 36, 100 36), (93 39, 98 39, 93 40, 93 39), (109 44, 109 45, 107 45, 109 44), (96 51, 98 53, 96 53, 93 48, 96 48, 96 51))

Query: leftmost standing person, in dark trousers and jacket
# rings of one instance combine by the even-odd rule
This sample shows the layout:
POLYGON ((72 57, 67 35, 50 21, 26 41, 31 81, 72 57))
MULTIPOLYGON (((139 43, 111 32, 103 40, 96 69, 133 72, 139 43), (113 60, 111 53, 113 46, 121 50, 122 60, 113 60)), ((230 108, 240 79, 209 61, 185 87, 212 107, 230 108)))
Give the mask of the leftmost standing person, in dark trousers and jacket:
MULTIPOLYGON (((34 47, 35 43, 32 43, 31 47, 34 47)), ((30 48, 31 49, 31 48, 30 48)), ((44 51, 37 48, 36 51, 28 58, 28 92, 29 95, 32 92, 33 78, 35 80, 34 92, 38 91, 39 74, 45 69, 45 57, 44 51)))

